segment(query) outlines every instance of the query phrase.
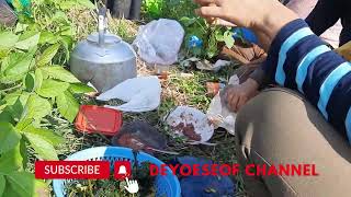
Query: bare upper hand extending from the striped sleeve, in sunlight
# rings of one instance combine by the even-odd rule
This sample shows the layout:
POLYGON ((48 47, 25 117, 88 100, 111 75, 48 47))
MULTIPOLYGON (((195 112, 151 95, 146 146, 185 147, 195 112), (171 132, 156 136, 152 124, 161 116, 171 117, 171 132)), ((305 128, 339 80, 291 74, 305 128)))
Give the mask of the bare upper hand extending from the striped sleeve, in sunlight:
POLYGON ((278 0, 194 0, 207 21, 251 28, 265 51, 278 32, 298 16, 278 0))

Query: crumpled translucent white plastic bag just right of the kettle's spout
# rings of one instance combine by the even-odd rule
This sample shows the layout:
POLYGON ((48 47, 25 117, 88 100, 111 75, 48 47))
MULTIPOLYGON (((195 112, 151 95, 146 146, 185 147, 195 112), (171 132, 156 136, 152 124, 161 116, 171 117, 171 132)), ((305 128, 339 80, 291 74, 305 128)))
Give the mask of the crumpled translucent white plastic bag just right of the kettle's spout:
POLYGON ((133 46, 148 63, 169 66, 178 60, 184 30, 174 20, 160 19, 140 26, 133 46))

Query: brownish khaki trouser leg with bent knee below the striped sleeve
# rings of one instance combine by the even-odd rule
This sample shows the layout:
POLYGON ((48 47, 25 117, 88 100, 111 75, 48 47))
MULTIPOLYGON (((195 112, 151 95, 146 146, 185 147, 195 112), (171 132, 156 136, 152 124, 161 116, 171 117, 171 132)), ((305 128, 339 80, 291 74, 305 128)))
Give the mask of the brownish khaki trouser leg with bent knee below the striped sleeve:
POLYGON ((236 134, 240 166, 306 163, 315 164, 319 174, 242 174, 248 196, 350 196, 350 146, 301 94, 286 89, 263 91, 238 113, 236 134))

